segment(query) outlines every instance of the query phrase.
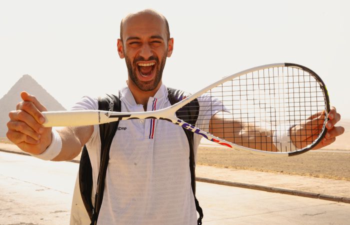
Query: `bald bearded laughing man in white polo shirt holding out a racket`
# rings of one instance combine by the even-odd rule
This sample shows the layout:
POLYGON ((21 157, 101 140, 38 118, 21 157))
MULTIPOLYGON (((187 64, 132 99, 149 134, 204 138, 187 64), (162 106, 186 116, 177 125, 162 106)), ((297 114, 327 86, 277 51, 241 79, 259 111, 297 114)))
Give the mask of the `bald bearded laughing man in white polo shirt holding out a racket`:
MULTIPOLYGON (((166 57, 173 50, 173 38, 165 17, 150 9, 127 15, 120 24, 117 50, 128 70, 127 86, 120 90, 121 111, 169 106, 161 77, 166 57)), ((41 125, 44 120, 40 112, 45 107, 26 92, 21 97, 23 101, 9 113, 7 137, 22 150, 54 161, 74 158, 86 144, 95 183, 100 151, 98 125, 52 131, 41 125)), ((205 103, 199 103, 205 113, 205 103)), ((96 98, 91 97, 84 97, 73 107, 97 108, 96 98)), ((207 119, 220 119, 215 116, 207 119)), ((328 145, 343 132, 342 127, 334 126, 339 119, 332 108, 326 138, 317 147, 328 145)), ((110 148, 99 224, 196 224, 185 134, 181 127, 167 121, 150 124, 149 120, 119 123, 125 129, 117 132, 110 148), (150 125, 155 126, 152 135, 150 125)), ((200 137, 194 138, 196 150, 200 137)))

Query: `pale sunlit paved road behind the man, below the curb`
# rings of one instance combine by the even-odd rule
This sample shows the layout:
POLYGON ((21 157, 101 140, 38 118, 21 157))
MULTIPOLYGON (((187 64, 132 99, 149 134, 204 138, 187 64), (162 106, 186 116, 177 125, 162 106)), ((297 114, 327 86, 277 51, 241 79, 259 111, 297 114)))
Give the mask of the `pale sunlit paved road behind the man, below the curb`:
MULTIPOLYGON (((0 152, 0 224, 68 224, 78 164, 0 152)), ((350 204, 197 182, 203 224, 349 224, 350 204)))

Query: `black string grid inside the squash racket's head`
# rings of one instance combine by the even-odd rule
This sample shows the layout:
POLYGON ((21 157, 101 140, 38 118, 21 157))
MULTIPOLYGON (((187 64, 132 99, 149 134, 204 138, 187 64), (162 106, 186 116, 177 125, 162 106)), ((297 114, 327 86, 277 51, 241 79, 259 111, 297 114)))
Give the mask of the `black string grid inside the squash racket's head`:
POLYGON ((320 136, 325 125, 326 101, 320 82, 300 68, 246 73, 197 99, 198 128, 249 148, 275 151, 278 144, 281 151, 290 151, 294 145, 304 148, 320 136), (290 132, 294 126, 302 131, 290 132), (273 135, 288 136, 287 143, 274 143, 273 135))

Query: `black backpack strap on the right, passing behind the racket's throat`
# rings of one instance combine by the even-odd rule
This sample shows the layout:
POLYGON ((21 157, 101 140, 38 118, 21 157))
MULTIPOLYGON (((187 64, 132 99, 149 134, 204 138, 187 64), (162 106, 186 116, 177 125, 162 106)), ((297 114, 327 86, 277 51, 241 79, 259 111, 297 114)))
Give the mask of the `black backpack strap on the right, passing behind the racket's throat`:
MULTIPOLYGON (((185 93, 182 90, 177 90, 174 88, 167 88, 168 91, 168 98, 170 104, 175 104, 178 101, 182 100, 186 96, 189 96, 188 93, 185 93)), ((176 116, 183 121, 195 125, 195 122, 197 121, 199 114, 199 103, 197 99, 194 99, 190 101, 188 104, 184 105, 182 108, 178 109, 176 111, 176 116)), ((194 159, 194 149, 193 149, 193 132, 183 128, 187 140, 188 140, 188 145, 189 145, 189 170, 191 173, 191 187, 193 191, 193 196, 194 196, 194 202, 195 202, 195 208, 199 214, 199 218, 197 220, 197 224, 200 225, 202 224, 201 219, 203 218, 203 210, 199 206, 199 202, 197 198, 195 197, 195 159, 194 159)))

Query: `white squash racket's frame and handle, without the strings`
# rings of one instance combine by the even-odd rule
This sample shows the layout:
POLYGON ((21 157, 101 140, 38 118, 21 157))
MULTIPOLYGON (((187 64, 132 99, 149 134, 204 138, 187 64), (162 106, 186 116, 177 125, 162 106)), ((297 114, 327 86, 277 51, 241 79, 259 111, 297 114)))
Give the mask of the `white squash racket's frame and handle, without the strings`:
POLYGON ((181 101, 179 101, 171 106, 168 106, 168 107, 162 108, 162 109, 158 109, 158 110, 154 110, 154 111, 113 112, 113 111, 102 111, 102 110, 74 110, 74 111, 47 111, 47 112, 42 112, 42 114, 44 115, 45 120, 46 120, 43 123, 43 126, 57 126, 56 124, 51 123, 50 118, 60 116, 60 115, 61 115, 61 118, 59 120, 61 122, 59 123, 60 124, 59 126, 92 125, 92 124, 100 124, 100 123, 113 122, 113 121, 126 120, 126 119, 153 118, 153 119, 167 120, 167 121, 172 122, 176 125, 182 126, 183 128, 188 129, 194 133, 202 135, 203 137, 205 137, 208 140, 211 140, 213 142, 219 143, 221 145, 224 145, 226 147, 230 147, 230 148, 233 148, 236 150, 241 150, 241 151, 254 153, 254 154, 260 154, 260 155, 292 156, 292 155, 304 153, 304 152, 312 149, 312 147, 314 147, 316 144, 318 144, 321 141, 321 139, 324 137, 324 135, 327 131, 327 128, 325 127, 325 123, 327 121, 327 116, 328 116, 329 110, 330 110, 330 106, 329 106, 328 91, 327 91, 322 79, 314 71, 312 71, 311 69, 309 69, 303 65, 299 65, 299 64, 295 64, 295 63, 273 63, 273 64, 266 64, 266 65, 262 65, 262 66, 252 67, 252 68, 245 69, 243 71, 234 73, 232 75, 225 76, 225 77, 221 78, 220 80, 217 80, 216 82, 211 83, 210 85, 196 91, 195 93, 191 94, 190 96, 187 96, 186 98, 182 99, 181 101), (284 67, 284 66, 302 69, 302 70, 307 71, 310 75, 312 75, 316 79, 316 81, 319 83, 322 91, 324 92, 324 100, 326 103, 326 112, 325 112, 325 120, 323 123, 322 130, 321 130, 320 134, 318 135, 318 137, 316 138, 316 140, 312 141, 312 143, 308 144, 307 146, 305 146, 301 149, 298 149, 298 150, 292 151, 292 152, 272 152, 272 151, 262 151, 262 150, 256 150, 253 148, 240 146, 240 145, 237 145, 235 143, 231 143, 231 142, 228 142, 226 140, 223 140, 219 137, 215 137, 209 133, 206 133, 206 132, 200 130, 199 128, 194 127, 194 126, 186 123, 185 121, 183 121, 175 116, 175 112, 179 108, 183 107, 184 105, 186 105, 190 101, 194 100, 195 98, 197 98, 201 94, 205 93, 206 91, 216 87, 217 85, 220 85, 221 83, 224 83, 225 81, 228 81, 230 79, 233 79, 235 77, 238 77, 240 75, 247 74, 247 73, 250 73, 253 71, 262 70, 262 69, 266 69, 266 68, 284 67), (95 113, 95 116, 97 116, 97 118, 92 116, 93 118, 91 117, 91 122, 85 122, 84 124, 74 124, 74 121, 78 120, 78 119, 74 119, 74 118, 78 118, 79 115, 81 115, 81 113, 91 113, 91 116, 93 113, 95 113), (68 119, 69 121, 64 123, 64 118, 67 118, 67 116, 69 116, 71 119, 68 119))

